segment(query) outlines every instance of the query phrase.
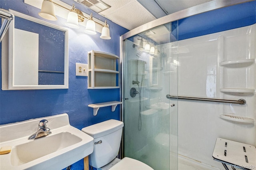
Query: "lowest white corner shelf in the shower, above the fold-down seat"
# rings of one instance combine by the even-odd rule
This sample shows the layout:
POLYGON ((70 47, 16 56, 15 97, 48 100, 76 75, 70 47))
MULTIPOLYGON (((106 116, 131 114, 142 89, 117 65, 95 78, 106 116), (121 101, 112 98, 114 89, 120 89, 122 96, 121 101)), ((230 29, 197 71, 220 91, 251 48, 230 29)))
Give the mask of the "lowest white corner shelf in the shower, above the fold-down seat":
POLYGON ((241 116, 235 116, 235 115, 220 115, 221 119, 224 119, 226 121, 231 121, 234 123, 240 123, 240 124, 254 124, 255 119, 248 118, 248 117, 241 117, 241 116))

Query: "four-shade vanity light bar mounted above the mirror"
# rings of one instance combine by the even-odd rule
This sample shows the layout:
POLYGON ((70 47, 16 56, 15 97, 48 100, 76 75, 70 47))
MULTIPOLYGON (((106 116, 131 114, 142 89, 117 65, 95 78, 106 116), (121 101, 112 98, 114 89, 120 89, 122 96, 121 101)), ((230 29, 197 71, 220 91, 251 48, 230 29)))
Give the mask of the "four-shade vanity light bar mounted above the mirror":
POLYGON ((45 18, 46 20, 56 21, 57 17, 55 16, 54 5, 56 5, 60 8, 63 8, 65 10, 70 11, 68 13, 67 22, 65 23, 66 26, 71 27, 71 28, 79 28, 78 23, 83 22, 84 19, 86 19, 87 20, 86 29, 84 30, 84 32, 86 32, 87 34, 95 35, 96 34, 95 24, 98 24, 100 26, 103 26, 102 34, 101 34, 100 38, 105 39, 105 40, 111 39, 110 31, 109 31, 109 28, 106 24, 106 21, 105 21, 104 25, 102 25, 98 22, 95 22, 92 19, 92 14, 90 15, 89 18, 86 18, 80 10, 75 8, 74 4, 72 6, 72 9, 70 10, 70 9, 60 5, 60 4, 57 4, 56 2, 53 2, 52 0, 44 0, 43 3, 42 3, 41 11, 38 13, 38 15, 41 16, 42 18, 45 18))

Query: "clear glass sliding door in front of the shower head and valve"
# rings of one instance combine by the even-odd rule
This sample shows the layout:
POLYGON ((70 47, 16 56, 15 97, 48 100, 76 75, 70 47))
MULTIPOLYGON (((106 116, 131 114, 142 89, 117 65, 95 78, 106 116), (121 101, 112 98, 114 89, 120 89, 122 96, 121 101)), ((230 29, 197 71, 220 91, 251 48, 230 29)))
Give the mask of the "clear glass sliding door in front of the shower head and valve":
POLYGON ((124 40, 124 156, 154 170, 178 169, 178 103, 166 97, 178 91, 173 28, 169 23, 124 40))

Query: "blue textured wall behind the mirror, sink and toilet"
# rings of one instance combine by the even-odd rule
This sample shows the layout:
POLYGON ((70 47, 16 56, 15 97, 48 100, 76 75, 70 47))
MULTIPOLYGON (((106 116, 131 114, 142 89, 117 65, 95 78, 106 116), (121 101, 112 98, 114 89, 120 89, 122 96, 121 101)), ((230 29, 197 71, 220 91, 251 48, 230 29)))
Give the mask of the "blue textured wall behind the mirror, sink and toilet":
MULTIPOLYGON (((106 18, 81 6, 73 0, 63 0, 83 12, 93 13, 94 18, 105 21, 106 18)), ((0 0, 0 8, 12 9, 17 12, 42 19, 38 16, 40 10, 23 0, 0 0)), ((65 19, 58 17, 57 21, 48 21, 60 27, 65 26, 65 19)), ((111 40, 102 40, 100 33, 88 35, 84 33, 84 27, 68 30, 68 54, 69 54, 69 89, 54 90, 20 90, 2 91, 0 90, 0 124, 24 121, 38 117, 46 117, 67 113, 70 124, 78 129, 99 123, 108 119, 120 120, 120 105, 116 111, 111 112, 111 107, 103 107, 98 111, 97 116, 93 116, 93 109, 88 107, 91 103, 101 103, 107 101, 119 101, 120 89, 87 89, 87 77, 76 76, 75 63, 87 64, 87 51, 92 49, 105 51, 120 56, 120 36, 128 30, 107 20, 110 26, 111 40)), ((47 49, 45 49, 47 50, 47 49)), ((2 51, 2 45, 0 45, 2 51)), ((1 54, 0 54, 1 55, 1 54)), ((0 61, 1 62, 1 61, 0 61)), ((1 72, 0 72, 1 76, 1 72)), ((0 84, 2 84, 0 78, 0 84)), ((83 162, 79 161, 72 165, 74 170, 82 170, 83 162)))

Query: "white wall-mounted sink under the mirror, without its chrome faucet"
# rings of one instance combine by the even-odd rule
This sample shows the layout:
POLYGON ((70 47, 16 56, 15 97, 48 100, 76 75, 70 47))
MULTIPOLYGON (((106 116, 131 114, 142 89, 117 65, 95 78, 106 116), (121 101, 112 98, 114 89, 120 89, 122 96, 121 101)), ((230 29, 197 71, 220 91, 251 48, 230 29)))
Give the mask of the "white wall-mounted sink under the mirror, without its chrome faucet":
POLYGON ((12 146, 12 151, 0 155, 0 169, 63 169, 91 154, 93 145, 91 136, 69 124, 67 114, 1 125, 0 147, 12 146), (28 140, 42 119, 52 134, 28 140))

